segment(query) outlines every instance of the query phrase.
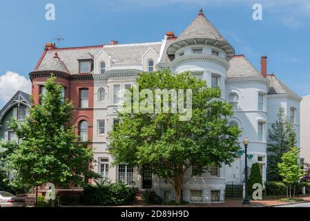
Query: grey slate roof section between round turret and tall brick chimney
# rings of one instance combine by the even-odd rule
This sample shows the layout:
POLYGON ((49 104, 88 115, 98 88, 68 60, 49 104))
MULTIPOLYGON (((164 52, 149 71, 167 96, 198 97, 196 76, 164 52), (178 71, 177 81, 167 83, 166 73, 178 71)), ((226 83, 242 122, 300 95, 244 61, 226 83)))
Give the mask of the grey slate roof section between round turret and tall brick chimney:
POLYGON ((244 55, 235 55, 229 61, 231 64, 227 70, 227 77, 259 77, 263 78, 258 70, 251 64, 251 62, 244 57, 244 55))

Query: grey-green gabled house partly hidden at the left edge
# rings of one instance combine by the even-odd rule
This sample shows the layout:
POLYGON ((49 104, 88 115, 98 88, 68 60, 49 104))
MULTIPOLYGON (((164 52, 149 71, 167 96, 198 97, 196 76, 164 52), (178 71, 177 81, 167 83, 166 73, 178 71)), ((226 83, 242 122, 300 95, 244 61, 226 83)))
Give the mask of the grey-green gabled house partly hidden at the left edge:
MULTIPOLYGON (((29 115, 30 106, 30 95, 21 91, 17 91, 10 101, 3 106, 0 111, 0 140, 2 142, 18 142, 17 135, 15 135, 12 128, 10 128, 10 121, 13 117, 14 119, 17 119, 17 121, 23 122, 26 116, 29 115)), ((0 156, 2 151, 3 148, 0 146, 0 156)))

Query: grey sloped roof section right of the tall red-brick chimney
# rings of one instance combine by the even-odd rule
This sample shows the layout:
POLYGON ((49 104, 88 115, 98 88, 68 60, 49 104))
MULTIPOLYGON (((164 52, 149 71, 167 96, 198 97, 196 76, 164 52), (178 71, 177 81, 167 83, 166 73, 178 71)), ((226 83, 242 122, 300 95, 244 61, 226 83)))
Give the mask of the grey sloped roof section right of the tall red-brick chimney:
POLYGON ((267 79, 270 81, 269 95, 287 94, 292 97, 301 97, 291 90, 286 84, 284 84, 275 75, 267 75, 267 79))

